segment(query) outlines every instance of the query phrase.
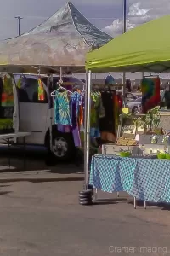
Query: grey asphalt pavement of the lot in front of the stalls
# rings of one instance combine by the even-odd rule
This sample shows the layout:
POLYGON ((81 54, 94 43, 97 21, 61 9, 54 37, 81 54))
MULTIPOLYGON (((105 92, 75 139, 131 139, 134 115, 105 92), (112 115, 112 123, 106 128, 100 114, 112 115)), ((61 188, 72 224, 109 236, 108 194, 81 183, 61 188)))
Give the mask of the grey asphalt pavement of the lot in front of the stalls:
MULTIPOLYGON (((7 162, 8 154, 1 154, 0 165, 7 162)), ((133 198, 126 193, 117 198, 115 193, 101 192, 99 201, 83 207, 78 201, 82 167, 72 163, 47 168, 43 157, 36 154, 28 162, 32 168, 27 171, 0 173, 0 255, 170 253, 169 207, 152 205, 144 210, 138 206, 134 210, 133 198), (14 177, 25 179, 19 182, 14 177)), ((12 163, 16 168, 22 161, 13 156, 12 163)))

